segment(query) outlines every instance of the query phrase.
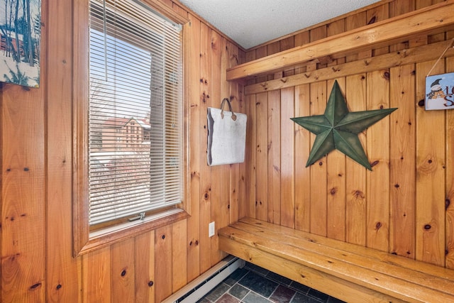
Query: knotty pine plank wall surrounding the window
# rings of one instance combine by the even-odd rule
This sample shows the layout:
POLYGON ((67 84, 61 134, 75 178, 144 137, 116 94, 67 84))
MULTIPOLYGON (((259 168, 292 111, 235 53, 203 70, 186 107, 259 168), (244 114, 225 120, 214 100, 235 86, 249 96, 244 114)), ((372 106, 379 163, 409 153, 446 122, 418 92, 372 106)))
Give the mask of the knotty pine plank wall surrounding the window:
POLYGON ((40 88, 1 86, 0 302, 160 302, 225 256, 208 236, 209 222, 221 228, 240 216, 240 165, 206 164, 206 108, 233 97, 234 109, 245 111, 243 86, 225 75, 245 53, 188 9, 162 0, 191 20, 185 91, 192 216, 73 258, 72 72, 87 50, 72 48, 72 16, 86 26, 88 1, 41 2, 40 88))

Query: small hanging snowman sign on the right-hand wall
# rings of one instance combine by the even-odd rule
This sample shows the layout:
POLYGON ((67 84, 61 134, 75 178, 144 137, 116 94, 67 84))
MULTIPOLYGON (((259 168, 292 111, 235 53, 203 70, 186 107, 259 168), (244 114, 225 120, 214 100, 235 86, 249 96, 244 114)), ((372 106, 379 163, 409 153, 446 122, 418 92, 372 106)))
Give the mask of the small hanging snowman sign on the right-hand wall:
POLYGON ((426 110, 454 109, 454 72, 426 77, 426 110))

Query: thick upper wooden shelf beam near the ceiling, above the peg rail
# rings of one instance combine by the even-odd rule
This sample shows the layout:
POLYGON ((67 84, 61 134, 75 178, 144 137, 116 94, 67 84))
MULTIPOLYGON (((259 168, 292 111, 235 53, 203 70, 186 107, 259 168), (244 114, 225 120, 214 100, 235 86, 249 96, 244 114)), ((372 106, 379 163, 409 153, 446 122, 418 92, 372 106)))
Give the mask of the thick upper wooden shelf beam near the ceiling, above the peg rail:
POLYGON ((414 35, 433 33, 454 25, 454 0, 412 11, 401 16, 362 26, 314 43, 291 48, 282 52, 246 62, 227 70, 227 80, 273 72, 318 57, 336 53, 349 53, 361 48, 382 47, 403 42, 414 35))

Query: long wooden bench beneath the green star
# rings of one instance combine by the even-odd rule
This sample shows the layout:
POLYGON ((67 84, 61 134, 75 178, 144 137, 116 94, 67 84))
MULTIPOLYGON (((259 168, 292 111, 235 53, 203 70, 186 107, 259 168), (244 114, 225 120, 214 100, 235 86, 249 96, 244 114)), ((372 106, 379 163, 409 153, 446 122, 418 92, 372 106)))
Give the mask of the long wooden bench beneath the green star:
POLYGON ((346 302, 454 302, 454 270, 250 218, 218 236, 226 253, 346 302))

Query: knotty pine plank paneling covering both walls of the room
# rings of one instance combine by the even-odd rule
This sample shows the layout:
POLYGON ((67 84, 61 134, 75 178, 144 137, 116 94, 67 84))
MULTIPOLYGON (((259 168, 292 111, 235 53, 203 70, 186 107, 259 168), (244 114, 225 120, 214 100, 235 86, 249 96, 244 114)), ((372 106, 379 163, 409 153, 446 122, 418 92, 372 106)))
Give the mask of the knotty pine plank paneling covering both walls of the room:
MULTIPOLYGON (((192 216, 72 257, 72 73, 77 53, 86 51, 72 48, 72 24, 87 0, 43 0, 40 88, 1 84, 0 302, 160 302, 225 256, 216 236, 208 237, 209 222, 221 228, 247 214, 454 268, 454 111, 415 105, 433 61, 338 79, 352 111, 399 107, 360 134, 374 172, 337 152, 304 167, 314 137, 289 118, 323 112, 333 80, 245 97, 243 84, 226 82, 226 68, 238 63, 438 1, 384 0, 246 52, 177 1, 146 1, 162 1, 190 20, 185 90, 192 216), (248 114, 246 159, 208 167, 206 108, 223 97, 248 114)), ((452 32, 247 84, 448 38, 452 32)), ((454 72, 454 59, 442 60, 436 72, 454 72)))

